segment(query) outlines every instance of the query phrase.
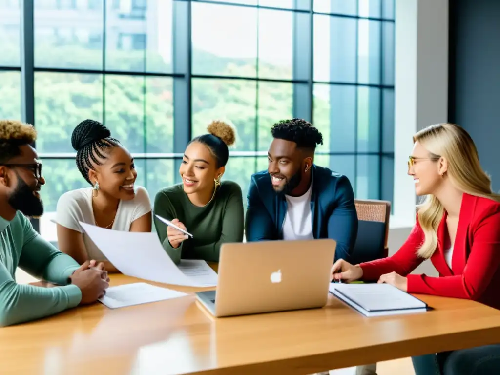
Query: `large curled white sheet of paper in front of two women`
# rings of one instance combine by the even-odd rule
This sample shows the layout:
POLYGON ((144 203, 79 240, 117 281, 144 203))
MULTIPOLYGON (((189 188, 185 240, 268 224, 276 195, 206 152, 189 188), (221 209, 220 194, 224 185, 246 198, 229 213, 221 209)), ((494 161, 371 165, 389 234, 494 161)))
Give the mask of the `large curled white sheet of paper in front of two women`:
POLYGON ((217 274, 211 268, 211 273, 208 271, 204 260, 197 260, 206 264, 203 269, 201 266, 193 269, 189 262, 185 263, 184 271, 177 267, 154 232, 110 230, 81 221, 80 225, 107 259, 127 276, 185 286, 217 284, 217 274))

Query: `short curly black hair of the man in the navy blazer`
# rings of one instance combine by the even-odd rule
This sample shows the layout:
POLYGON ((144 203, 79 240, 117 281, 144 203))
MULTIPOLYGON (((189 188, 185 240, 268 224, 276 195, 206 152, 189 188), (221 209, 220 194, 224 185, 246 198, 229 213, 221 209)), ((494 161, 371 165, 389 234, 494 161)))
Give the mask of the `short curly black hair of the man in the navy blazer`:
POLYGON ((323 144, 323 136, 311 123, 301 118, 280 120, 271 127, 273 138, 295 142, 298 148, 315 150, 316 145, 323 144))

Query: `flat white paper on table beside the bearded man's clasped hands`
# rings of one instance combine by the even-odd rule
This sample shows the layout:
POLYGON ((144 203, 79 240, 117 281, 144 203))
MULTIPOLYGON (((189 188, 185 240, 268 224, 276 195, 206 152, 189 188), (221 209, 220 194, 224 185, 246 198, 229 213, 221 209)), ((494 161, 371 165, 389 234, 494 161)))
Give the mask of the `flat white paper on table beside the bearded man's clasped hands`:
POLYGON ((99 302, 109 308, 132 306, 134 304, 161 301, 187 295, 177 290, 150 285, 145 282, 134 282, 106 289, 106 294, 99 302))

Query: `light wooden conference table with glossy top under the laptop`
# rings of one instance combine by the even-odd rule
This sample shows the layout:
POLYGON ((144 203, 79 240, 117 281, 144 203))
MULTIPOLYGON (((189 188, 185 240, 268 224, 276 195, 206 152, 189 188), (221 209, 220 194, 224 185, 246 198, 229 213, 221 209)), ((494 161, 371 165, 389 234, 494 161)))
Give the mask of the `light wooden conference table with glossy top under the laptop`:
MULTIPOLYGON (((142 281, 110 277, 111 286, 142 281)), ((324 308, 219 319, 192 294, 118 309, 96 303, 0 328, 1 373, 299 375, 498 342, 500 311, 419 297, 435 309, 370 318, 331 295, 324 308)))

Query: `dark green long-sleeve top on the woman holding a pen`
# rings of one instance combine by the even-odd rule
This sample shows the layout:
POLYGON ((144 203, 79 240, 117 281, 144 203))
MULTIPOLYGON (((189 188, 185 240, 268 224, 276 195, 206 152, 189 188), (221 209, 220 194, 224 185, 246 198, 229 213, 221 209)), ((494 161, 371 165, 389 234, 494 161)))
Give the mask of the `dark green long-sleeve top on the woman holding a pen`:
POLYGON ((193 235, 173 248, 166 236, 167 225, 154 216, 163 248, 177 264, 181 258, 218 262, 222 243, 243 241, 243 198, 236 182, 222 181, 202 207, 191 203, 182 184, 164 188, 154 198, 154 213, 168 220, 179 219, 193 235))

